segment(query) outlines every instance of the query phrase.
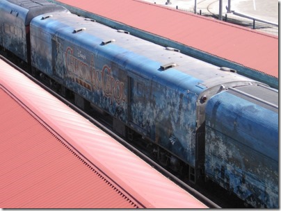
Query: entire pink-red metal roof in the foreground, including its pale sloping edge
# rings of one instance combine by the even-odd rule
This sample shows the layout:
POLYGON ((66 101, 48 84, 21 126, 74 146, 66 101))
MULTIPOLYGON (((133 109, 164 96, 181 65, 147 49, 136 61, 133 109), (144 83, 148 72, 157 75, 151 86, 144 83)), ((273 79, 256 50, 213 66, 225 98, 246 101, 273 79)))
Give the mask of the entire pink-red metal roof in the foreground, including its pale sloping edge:
POLYGON ((0 60, 1 208, 207 208, 0 60))

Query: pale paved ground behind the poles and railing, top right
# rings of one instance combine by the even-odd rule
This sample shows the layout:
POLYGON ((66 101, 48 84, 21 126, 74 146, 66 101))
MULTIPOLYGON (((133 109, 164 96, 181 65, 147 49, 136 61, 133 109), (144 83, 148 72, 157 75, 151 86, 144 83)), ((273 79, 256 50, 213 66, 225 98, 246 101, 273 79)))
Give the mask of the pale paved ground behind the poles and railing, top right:
MULTIPOLYGON (((166 5, 172 8, 184 8, 194 10, 195 0, 143 0, 150 3, 166 5), (170 4, 168 3, 170 2, 170 4)), ((228 0, 223 0, 223 15, 227 13, 228 0)), ((278 24, 278 1, 277 0, 231 0, 230 9, 242 15, 261 19, 266 22, 278 24)), ((196 10, 199 12, 219 13, 219 0, 196 0, 196 10)), ((229 13, 231 15, 231 13, 229 13)))

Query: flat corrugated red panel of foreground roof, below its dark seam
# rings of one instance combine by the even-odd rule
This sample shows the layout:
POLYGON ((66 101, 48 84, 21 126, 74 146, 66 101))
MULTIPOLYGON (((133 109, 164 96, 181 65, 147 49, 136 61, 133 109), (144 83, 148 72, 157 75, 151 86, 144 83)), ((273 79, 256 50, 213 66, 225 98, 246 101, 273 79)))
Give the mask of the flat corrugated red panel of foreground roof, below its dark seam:
POLYGON ((1 208, 135 207, 2 89, 0 99, 1 208))

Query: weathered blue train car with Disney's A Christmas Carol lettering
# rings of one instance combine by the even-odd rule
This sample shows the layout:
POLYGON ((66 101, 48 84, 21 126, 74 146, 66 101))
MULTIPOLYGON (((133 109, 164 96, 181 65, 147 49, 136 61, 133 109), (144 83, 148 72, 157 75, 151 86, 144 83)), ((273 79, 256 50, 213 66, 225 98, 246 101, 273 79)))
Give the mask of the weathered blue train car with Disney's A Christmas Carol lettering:
POLYGON ((113 117, 118 133, 134 130, 183 160, 195 181, 204 167, 207 99, 257 82, 90 19, 51 15, 31 22, 33 67, 72 90, 82 107, 86 100, 113 117))

